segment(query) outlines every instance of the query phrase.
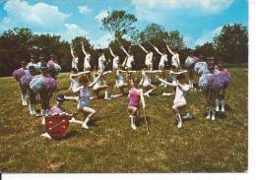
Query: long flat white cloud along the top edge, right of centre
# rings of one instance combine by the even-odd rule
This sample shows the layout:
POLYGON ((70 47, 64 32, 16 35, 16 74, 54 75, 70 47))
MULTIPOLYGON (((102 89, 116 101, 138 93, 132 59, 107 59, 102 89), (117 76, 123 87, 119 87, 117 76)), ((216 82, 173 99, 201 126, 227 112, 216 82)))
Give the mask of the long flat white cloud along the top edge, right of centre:
POLYGON ((204 11, 211 14, 223 11, 228 8, 232 2, 233 0, 132 0, 133 5, 141 8, 193 8, 197 11, 204 11))

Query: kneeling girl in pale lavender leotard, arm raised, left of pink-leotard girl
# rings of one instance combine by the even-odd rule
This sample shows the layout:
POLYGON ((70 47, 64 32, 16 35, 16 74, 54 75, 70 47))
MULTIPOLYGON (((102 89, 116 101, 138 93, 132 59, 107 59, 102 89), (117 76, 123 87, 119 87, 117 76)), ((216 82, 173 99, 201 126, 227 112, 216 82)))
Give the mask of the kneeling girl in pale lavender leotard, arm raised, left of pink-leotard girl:
POLYGON ((79 92, 78 110, 84 113, 85 120, 82 124, 82 128, 84 129, 89 129, 88 122, 91 120, 92 117, 96 115, 96 110, 89 107, 89 103, 91 99, 90 89, 92 89, 96 85, 101 75, 102 73, 99 73, 98 76, 96 77, 96 80, 91 84, 88 77, 81 78, 80 84, 82 86, 75 89, 75 92, 79 92))

